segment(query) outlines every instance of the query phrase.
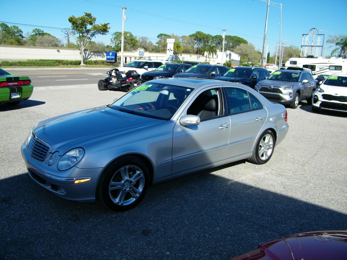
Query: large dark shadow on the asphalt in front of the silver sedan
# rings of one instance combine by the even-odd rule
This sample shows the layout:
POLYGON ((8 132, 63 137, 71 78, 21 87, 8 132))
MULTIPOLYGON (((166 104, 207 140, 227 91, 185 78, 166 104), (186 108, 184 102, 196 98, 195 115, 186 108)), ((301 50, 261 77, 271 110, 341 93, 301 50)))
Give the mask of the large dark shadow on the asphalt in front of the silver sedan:
POLYGON ((149 188, 125 212, 54 196, 27 173, 0 180, 0 259, 229 259, 264 241, 347 229, 347 216, 215 175, 149 188))

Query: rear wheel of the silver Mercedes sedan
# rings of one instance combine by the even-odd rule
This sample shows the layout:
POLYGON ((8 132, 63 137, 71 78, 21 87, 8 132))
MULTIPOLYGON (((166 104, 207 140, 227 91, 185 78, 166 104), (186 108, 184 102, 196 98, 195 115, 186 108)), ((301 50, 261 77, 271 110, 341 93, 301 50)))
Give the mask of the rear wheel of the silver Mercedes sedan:
POLYGON ((249 158, 249 161, 254 164, 264 164, 267 163, 272 154, 275 146, 275 137, 271 130, 264 131, 253 150, 253 155, 249 158))

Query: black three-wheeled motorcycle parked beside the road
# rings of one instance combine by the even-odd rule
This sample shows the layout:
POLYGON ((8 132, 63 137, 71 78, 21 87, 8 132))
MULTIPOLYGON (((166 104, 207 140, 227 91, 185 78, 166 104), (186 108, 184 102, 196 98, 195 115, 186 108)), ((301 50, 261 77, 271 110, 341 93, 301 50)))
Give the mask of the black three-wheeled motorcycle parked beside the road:
POLYGON ((140 75, 135 70, 120 73, 118 69, 110 69, 106 72, 109 76, 100 79, 99 90, 131 90, 139 84, 140 75))

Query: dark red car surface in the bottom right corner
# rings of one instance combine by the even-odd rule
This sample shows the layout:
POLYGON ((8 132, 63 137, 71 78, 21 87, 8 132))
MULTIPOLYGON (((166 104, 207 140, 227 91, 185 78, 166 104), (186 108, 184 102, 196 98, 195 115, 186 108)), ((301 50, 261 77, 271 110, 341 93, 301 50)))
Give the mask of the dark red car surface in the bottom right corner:
POLYGON ((304 232, 261 243, 230 260, 346 259, 346 242, 346 230, 304 232))

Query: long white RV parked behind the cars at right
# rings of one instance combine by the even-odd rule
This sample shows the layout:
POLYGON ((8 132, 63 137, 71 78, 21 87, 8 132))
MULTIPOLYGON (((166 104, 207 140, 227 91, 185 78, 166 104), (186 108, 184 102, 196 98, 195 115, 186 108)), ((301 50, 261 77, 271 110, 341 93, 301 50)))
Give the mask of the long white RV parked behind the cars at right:
POLYGON ((311 69, 315 75, 342 73, 347 74, 347 59, 332 57, 330 59, 322 58, 290 58, 286 62, 286 68, 300 67, 311 69))

